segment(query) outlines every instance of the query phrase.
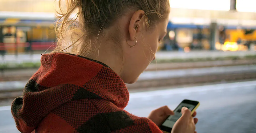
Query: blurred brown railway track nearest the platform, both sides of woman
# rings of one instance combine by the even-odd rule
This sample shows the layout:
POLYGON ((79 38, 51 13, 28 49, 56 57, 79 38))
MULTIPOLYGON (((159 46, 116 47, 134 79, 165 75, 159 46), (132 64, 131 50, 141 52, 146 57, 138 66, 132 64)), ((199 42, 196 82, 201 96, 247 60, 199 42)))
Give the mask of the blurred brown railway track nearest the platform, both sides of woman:
MULTIPOLYGON (((235 72, 216 72, 204 74, 190 74, 186 76, 158 77, 151 79, 139 79, 134 84, 127 84, 128 90, 149 89, 153 87, 193 85, 200 83, 214 83, 223 81, 240 81, 240 80, 256 80, 256 69, 245 68, 235 72)), ((12 101, 22 95, 23 88, 2 88, 0 90, 0 103, 12 101)))

